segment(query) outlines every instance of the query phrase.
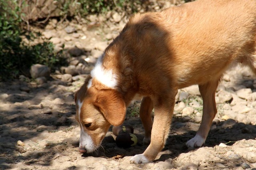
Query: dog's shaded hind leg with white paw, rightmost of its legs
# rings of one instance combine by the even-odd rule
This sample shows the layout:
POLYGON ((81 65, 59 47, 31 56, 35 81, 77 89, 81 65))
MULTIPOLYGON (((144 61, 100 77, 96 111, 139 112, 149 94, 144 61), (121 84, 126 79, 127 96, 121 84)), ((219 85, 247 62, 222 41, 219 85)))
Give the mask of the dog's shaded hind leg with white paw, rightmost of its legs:
POLYGON ((206 140, 206 137, 212 125, 212 120, 217 113, 215 92, 218 84, 219 79, 207 82, 206 84, 198 85, 200 94, 203 99, 202 123, 196 133, 196 136, 186 143, 187 147, 201 147, 206 140))

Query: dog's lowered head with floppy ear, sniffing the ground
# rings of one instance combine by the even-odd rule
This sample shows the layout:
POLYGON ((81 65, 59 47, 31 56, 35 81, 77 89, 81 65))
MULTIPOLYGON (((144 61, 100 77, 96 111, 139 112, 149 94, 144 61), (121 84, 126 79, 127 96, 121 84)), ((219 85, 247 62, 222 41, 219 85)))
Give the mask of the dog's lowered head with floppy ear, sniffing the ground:
POLYGON ((110 125, 121 125, 126 113, 125 102, 117 90, 100 88, 94 80, 88 88, 88 82, 89 79, 75 93, 76 120, 81 128, 81 153, 96 150, 110 125))

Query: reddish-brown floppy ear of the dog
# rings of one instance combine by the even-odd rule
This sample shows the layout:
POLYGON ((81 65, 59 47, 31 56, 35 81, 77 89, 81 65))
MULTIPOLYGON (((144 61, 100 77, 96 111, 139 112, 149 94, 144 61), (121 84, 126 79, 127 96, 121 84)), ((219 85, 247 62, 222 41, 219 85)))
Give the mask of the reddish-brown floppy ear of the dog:
POLYGON ((119 126, 124 122, 126 105, 117 90, 100 90, 94 105, 100 109, 111 125, 119 126))

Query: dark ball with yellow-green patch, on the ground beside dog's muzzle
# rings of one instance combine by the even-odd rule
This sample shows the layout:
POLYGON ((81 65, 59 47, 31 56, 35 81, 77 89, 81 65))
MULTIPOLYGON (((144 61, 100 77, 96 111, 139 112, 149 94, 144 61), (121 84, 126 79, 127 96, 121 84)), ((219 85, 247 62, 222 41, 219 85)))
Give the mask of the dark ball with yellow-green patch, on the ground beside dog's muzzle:
POLYGON ((137 137, 132 133, 121 133, 116 137, 116 145, 122 148, 133 147, 137 144, 137 137))

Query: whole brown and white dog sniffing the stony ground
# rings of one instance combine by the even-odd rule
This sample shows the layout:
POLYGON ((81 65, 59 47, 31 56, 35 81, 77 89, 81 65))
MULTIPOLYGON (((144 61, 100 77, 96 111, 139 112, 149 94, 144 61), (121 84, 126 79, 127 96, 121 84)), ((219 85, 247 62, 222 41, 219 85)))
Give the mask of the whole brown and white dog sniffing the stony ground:
POLYGON ((216 88, 237 63, 256 73, 256 0, 197 0, 136 14, 75 94, 79 151, 96 150, 110 125, 121 125, 126 107, 140 96, 144 143, 149 146, 131 162, 152 162, 168 137, 178 89, 192 84, 199 86, 203 116, 196 136, 186 144, 201 147, 217 112, 216 88))

